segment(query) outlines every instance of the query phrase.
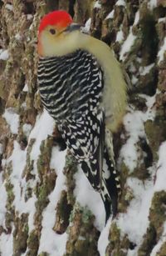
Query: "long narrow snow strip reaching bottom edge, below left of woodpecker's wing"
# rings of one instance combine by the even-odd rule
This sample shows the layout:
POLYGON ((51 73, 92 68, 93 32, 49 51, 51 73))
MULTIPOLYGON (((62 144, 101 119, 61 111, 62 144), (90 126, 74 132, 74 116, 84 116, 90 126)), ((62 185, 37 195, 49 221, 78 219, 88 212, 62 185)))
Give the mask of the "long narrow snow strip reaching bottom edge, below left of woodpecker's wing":
POLYGON ((51 168, 56 170, 56 187, 49 195, 50 203, 42 213, 42 229, 41 240, 38 253, 46 251, 51 256, 62 256, 66 252, 67 233, 57 234, 53 231, 56 221, 56 204, 61 196, 61 191, 66 189, 66 177, 63 174, 65 166, 66 151, 59 151, 58 148, 53 147, 51 153, 51 168))

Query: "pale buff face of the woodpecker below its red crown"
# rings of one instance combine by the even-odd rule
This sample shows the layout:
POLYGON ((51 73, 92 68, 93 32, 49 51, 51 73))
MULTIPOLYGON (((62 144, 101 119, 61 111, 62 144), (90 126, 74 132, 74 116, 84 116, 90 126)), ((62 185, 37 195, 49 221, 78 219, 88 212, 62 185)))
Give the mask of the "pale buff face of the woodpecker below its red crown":
POLYGON ((47 26, 38 37, 38 53, 41 56, 62 56, 80 48, 81 32, 75 30, 66 32, 64 28, 57 29, 47 26))

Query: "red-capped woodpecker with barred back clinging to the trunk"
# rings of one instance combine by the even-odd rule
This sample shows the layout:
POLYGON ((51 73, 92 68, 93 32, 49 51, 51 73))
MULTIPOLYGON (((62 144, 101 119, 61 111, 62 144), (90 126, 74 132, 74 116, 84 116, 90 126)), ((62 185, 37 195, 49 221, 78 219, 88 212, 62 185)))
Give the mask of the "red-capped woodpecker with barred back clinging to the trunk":
POLYGON ((120 63, 109 46, 82 33, 62 10, 41 19, 37 48, 41 102, 100 192, 107 221, 117 213, 120 193, 112 143, 127 102, 120 63))

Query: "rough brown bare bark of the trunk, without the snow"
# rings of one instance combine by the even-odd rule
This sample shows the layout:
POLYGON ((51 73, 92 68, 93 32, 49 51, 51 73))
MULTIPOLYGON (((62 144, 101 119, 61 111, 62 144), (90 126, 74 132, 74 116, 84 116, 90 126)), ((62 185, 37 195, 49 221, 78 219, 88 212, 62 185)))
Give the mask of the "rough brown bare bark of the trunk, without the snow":
MULTIPOLYGON (((31 124, 33 127, 37 114, 42 112, 40 97, 37 91, 37 27, 41 16, 56 8, 65 9, 70 12, 76 22, 85 23, 91 18, 90 33, 108 43, 115 50, 115 55, 120 58, 120 48, 129 35, 130 29, 136 37, 129 52, 125 53, 124 67, 129 73, 132 88, 129 91, 129 103, 134 110, 145 112, 147 106, 144 98, 139 93, 153 96, 158 89, 154 107, 156 114, 154 120, 144 122, 144 129, 149 140, 149 145, 139 139, 139 158, 133 173, 120 161, 122 197, 120 199, 120 212, 125 213, 133 198, 132 191, 125 186, 128 177, 138 178, 144 183, 149 176, 149 166, 158 161, 159 146, 166 140, 166 54, 164 60, 159 62, 159 48, 164 43, 166 36, 166 21, 164 19, 165 1, 157 1, 157 7, 149 8, 149 2, 126 1, 123 5, 115 5, 116 1, 101 0, 101 8, 93 8, 95 1, 63 1, 63 0, 3 0, 0 1, 0 48, 7 49, 9 57, 7 60, 0 59, 0 113, 9 109, 19 116, 18 133, 11 133, 5 119, 0 116, 0 142, 2 144, 1 168, 2 183, 5 184, 7 192, 7 213, 4 225, 0 227, 0 236, 3 233, 12 233, 13 255, 19 256, 37 255, 41 238, 42 212, 49 202, 48 195, 56 186, 55 170, 50 168, 51 148, 54 145, 54 136, 46 138, 41 142, 41 153, 37 160, 37 173, 39 180, 34 188, 27 186, 27 198, 35 193, 37 197, 36 213, 34 214, 34 229, 28 232, 28 213, 17 213, 13 207, 15 194, 11 183, 12 164, 4 162, 12 155, 14 141, 20 145, 22 150, 27 148, 27 164, 23 170, 22 178, 26 183, 31 183, 35 177, 32 173, 33 161, 30 158, 35 140, 28 140, 28 135, 23 132, 23 125, 31 124), (114 10, 114 18, 107 15, 114 10), (139 11, 139 22, 134 24, 136 13, 139 11), (160 18, 160 22, 159 22, 160 18), (121 41, 116 40, 120 30, 124 34, 121 41), (141 72, 144 68, 154 63, 149 73, 141 72), (23 88, 27 84, 27 91, 23 88), (147 157, 144 157, 144 152, 147 157), (142 161, 143 160, 143 161, 142 161)), ((120 148, 127 140, 128 134, 125 128, 115 134, 115 154, 118 160, 120 148), (123 137, 120 134, 123 133, 123 137)), ((76 163, 70 155, 66 156, 67 190, 63 190, 61 198, 57 203, 56 223, 54 231, 64 233, 68 228, 68 239, 66 243, 67 255, 99 255, 97 242, 100 232, 94 226, 94 216, 88 208, 82 208, 76 204, 73 194, 75 188, 74 173, 76 163), (64 211, 65 208, 65 211, 64 211), (79 239, 83 237, 84 239, 79 239), (88 253, 85 253, 88 252, 88 253)), ((154 245, 158 243, 163 233, 163 224, 166 220, 165 214, 166 191, 154 193, 149 210, 149 228, 144 234, 143 242, 139 247, 138 255, 150 255, 154 245)), ((121 234, 116 223, 110 226, 109 243, 105 255, 125 256, 134 245, 129 241, 127 234, 121 234)), ((3 254, 2 254, 3 255, 3 254)), ((47 255, 46 252, 40 255, 47 255)), ((166 243, 157 253, 159 256, 166 255, 166 243)))

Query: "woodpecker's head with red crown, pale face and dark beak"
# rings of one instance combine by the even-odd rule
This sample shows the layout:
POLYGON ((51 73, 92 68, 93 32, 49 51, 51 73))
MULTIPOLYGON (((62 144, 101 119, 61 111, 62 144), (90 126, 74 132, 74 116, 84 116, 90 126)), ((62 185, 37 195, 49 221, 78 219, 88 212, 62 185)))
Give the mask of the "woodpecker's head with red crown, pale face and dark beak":
POLYGON ((46 14, 38 30, 38 53, 40 56, 61 56, 77 48, 81 26, 73 23, 65 11, 46 14))

